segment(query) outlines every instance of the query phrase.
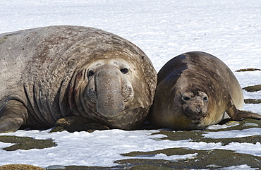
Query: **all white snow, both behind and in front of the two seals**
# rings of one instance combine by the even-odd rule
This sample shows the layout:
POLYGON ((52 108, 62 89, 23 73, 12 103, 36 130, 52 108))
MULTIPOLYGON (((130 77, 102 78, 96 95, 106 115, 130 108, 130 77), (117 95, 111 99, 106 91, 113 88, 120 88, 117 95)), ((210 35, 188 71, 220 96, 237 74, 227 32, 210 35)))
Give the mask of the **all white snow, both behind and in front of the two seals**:
MULTIPOLYGON (((1 0, 0 33, 49 25, 100 28, 138 45, 157 71, 178 54, 205 51, 224 61, 245 87, 261 84, 261 71, 235 72, 241 68, 261 68, 260 14, 261 1, 257 0, 1 0)), ((261 92, 244 91, 244 95, 245 99, 261 99, 261 92)), ((245 104, 243 109, 261 114, 261 104, 245 104)), ((150 135, 154 131, 96 130, 94 133, 49 134, 48 130, 18 130, 8 135, 52 138, 58 145, 43 150, 0 150, 0 165, 114 166, 114 160, 126 159, 121 153, 191 146, 198 150, 220 148, 261 156, 260 142, 255 145, 233 142, 222 146, 221 143, 192 143, 189 140, 153 140, 162 137, 150 135)), ((220 138, 259 133, 260 128, 250 128, 244 132, 222 132, 220 138)), ((207 135, 217 138, 218 133, 207 135)), ((11 144, 0 142, 0 148, 7 145, 11 144)), ((155 157, 178 159, 178 156, 162 154, 155 157)))

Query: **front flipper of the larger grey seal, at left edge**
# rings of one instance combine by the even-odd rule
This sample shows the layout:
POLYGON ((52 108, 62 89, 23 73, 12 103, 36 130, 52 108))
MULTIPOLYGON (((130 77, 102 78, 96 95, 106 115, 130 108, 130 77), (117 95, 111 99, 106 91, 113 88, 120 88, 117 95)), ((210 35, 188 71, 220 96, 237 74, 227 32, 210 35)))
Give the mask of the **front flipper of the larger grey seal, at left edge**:
POLYGON ((9 100, 0 109, 0 133, 18 130, 27 117, 28 110, 23 103, 9 100))

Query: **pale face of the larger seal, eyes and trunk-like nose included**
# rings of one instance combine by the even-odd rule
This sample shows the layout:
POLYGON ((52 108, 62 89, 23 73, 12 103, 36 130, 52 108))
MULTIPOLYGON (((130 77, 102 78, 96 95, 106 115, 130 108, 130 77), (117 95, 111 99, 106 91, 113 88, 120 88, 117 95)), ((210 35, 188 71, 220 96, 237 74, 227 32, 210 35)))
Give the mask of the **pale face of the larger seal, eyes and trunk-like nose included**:
MULTIPOLYGON (((96 112, 107 119, 128 109, 134 97, 135 68, 123 59, 98 60, 88 66, 85 102, 95 104, 96 112)), ((87 105, 87 104, 85 104, 87 105)))

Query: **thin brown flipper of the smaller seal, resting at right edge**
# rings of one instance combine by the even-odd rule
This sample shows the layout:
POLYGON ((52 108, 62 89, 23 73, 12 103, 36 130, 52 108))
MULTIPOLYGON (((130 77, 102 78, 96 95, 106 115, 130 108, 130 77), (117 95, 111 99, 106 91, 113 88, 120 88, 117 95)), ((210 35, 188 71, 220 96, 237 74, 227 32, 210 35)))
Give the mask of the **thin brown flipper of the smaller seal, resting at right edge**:
POLYGON ((236 109, 236 107, 234 105, 231 108, 229 108, 226 111, 226 113, 229 114, 231 119, 233 119, 235 121, 240 121, 243 119, 261 119, 260 114, 254 114, 251 112, 238 110, 238 109, 236 109))

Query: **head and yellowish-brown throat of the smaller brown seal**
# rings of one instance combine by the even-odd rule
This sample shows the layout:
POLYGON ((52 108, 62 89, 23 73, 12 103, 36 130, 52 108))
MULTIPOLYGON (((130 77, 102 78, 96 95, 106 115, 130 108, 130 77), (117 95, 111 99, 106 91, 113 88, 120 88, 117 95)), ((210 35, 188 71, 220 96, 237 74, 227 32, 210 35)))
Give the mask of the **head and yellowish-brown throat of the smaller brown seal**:
MULTIPOLYGON (((212 103, 209 90, 197 82, 180 78, 169 92, 169 102, 161 121, 176 130, 203 129, 210 120, 210 104, 212 103), (181 84, 179 84, 181 83, 181 84)), ((155 120, 155 119, 154 119, 155 120)))

